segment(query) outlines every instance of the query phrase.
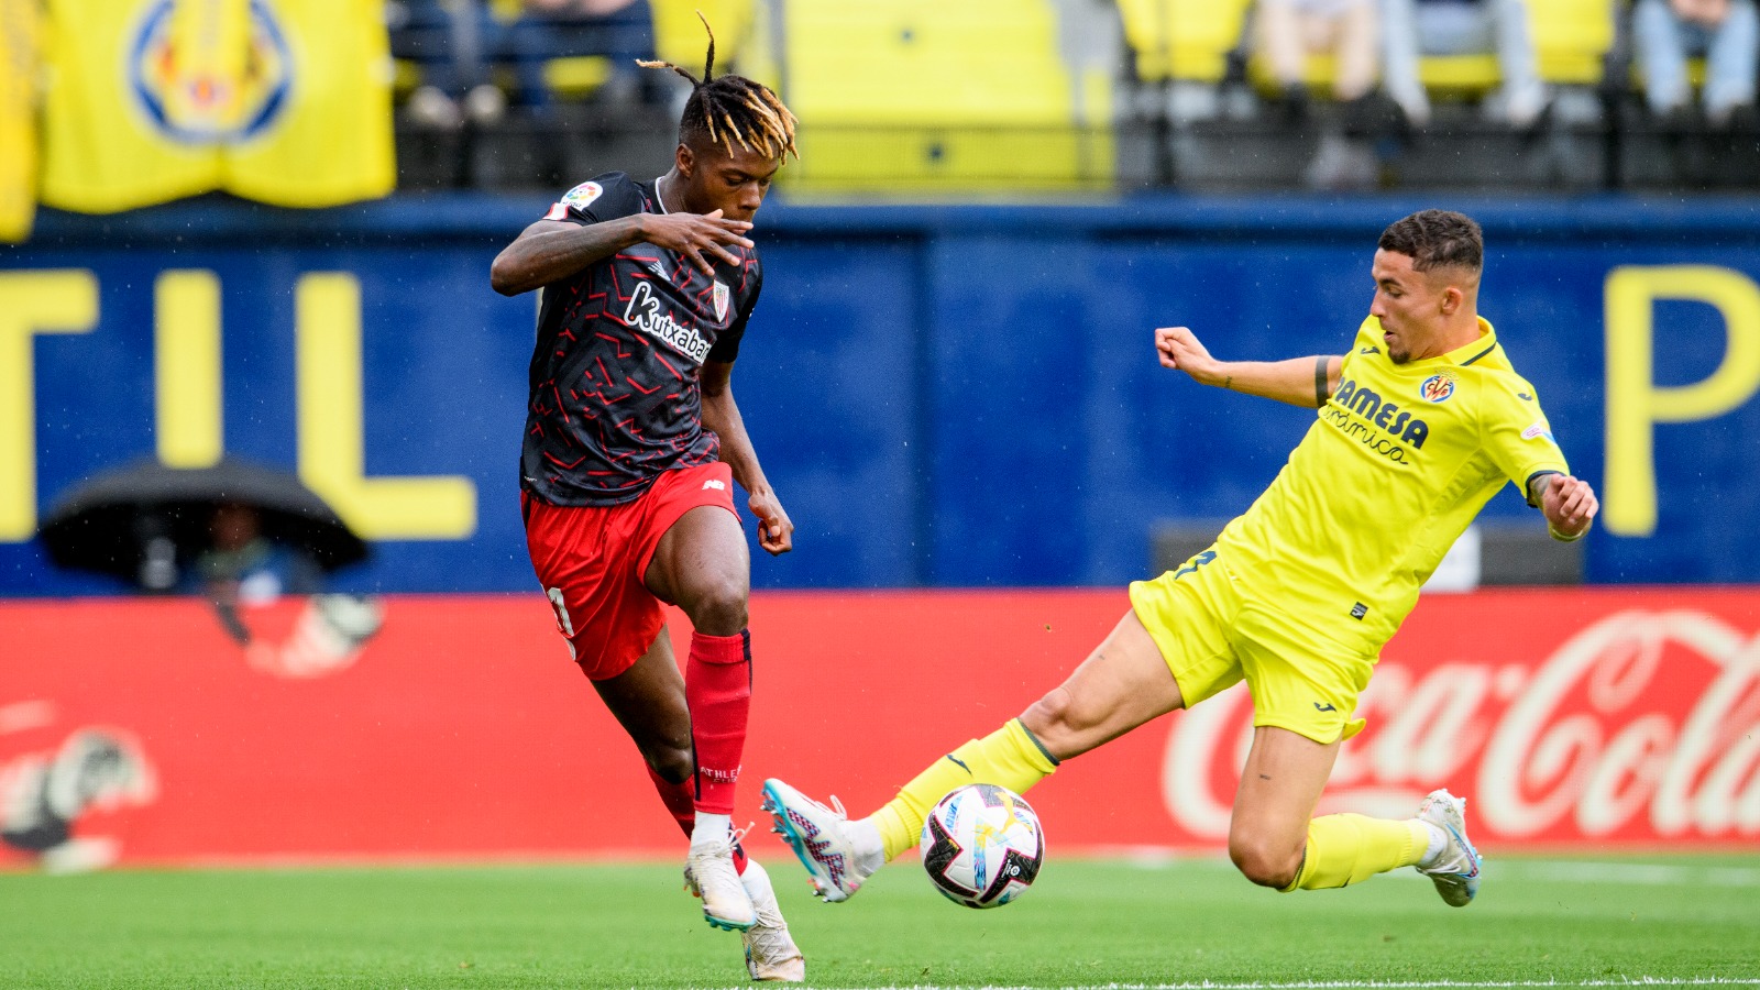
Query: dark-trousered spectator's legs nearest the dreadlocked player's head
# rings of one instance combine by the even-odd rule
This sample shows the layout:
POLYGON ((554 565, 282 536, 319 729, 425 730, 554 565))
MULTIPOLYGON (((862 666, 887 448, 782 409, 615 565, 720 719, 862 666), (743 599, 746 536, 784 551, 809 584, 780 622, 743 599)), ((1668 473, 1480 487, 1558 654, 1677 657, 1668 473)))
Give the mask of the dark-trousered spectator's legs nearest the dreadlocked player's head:
POLYGON ((524 0, 507 39, 519 83, 516 102, 539 113, 551 102, 544 63, 553 58, 605 56, 611 78, 597 99, 609 106, 658 102, 664 95, 635 65, 655 56, 655 14, 648 0, 524 0))

